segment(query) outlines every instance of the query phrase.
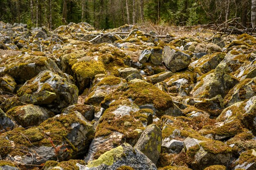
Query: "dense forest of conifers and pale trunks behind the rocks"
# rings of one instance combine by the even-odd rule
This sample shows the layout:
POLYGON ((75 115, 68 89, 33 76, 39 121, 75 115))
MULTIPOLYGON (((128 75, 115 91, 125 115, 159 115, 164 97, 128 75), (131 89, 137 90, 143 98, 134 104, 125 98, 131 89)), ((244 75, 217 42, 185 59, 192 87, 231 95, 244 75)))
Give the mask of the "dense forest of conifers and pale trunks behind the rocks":
POLYGON ((88 22, 99 29, 126 23, 190 26, 240 18, 251 22, 251 0, 0 0, 0 21, 46 26, 88 22))

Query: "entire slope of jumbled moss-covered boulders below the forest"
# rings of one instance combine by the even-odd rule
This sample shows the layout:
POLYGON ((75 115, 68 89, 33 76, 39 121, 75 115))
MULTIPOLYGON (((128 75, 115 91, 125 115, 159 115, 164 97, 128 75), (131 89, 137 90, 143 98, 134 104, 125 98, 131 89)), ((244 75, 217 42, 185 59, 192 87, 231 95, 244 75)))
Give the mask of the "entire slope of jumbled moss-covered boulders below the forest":
POLYGON ((256 170, 256 39, 194 31, 0 22, 0 170, 256 170))

